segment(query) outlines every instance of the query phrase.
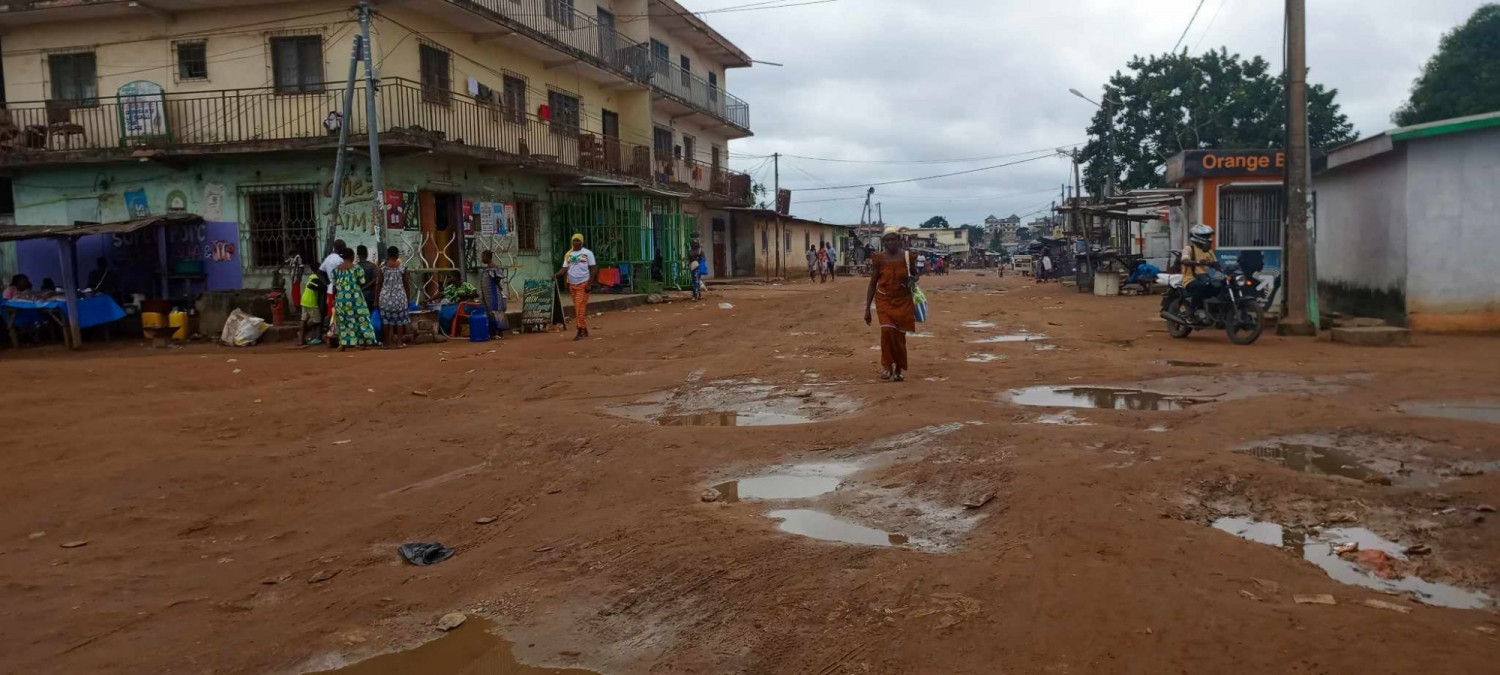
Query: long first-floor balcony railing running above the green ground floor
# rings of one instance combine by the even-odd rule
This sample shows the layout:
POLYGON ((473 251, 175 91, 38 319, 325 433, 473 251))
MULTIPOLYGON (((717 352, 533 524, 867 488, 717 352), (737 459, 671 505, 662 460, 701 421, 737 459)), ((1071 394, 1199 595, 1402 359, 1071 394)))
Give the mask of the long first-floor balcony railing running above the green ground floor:
MULTIPOLYGON (((508 2, 508 0, 507 0, 508 2)), ((356 102, 364 96, 356 90, 356 102)), ((436 96, 418 82, 386 80, 375 98, 382 146, 418 146, 498 156, 543 171, 600 174, 642 184, 687 188, 732 201, 748 196, 748 177, 702 164, 681 172, 652 168, 651 148, 562 120, 542 120, 500 102, 464 94, 436 96), (696 171, 694 171, 696 168, 696 171), (682 177, 687 177, 684 180, 682 177)), ((368 134, 364 106, 340 118, 342 84, 315 93, 272 87, 153 96, 102 96, 87 104, 28 102, 0 108, 0 165, 110 160, 152 156, 153 150, 255 152, 336 146, 339 124, 368 134), (144 154, 142 154, 144 153, 144 154)), ((682 165, 678 160, 678 165, 682 165)))

